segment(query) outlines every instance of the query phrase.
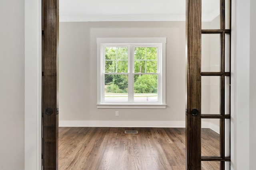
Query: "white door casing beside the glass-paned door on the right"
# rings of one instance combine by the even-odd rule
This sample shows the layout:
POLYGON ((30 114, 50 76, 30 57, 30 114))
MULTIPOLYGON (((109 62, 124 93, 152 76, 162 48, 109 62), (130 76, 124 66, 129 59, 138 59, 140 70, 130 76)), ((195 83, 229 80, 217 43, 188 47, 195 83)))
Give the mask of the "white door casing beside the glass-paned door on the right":
POLYGON ((232 1, 231 168, 234 170, 249 170, 249 154, 255 152, 250 145, 255 132, 250 129, 253 125, 249 114, 250 91, 254 91, 250 89, 250 80, 255 80, 250 78, 254 75, 250 75, 250 8, 255 7, 255 4, 250 6, 250 0, 232 1))

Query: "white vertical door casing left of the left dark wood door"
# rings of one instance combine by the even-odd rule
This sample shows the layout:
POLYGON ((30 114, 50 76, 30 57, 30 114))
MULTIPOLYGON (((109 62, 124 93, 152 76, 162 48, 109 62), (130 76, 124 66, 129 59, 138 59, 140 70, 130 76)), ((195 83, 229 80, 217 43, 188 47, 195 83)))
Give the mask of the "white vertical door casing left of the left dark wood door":
MULTIPOLYGON (((24 169, 41 170, 42 158, 42 0, 24 0, 25 9, 25 114, 24 169)), ((20 120, 22 121, 22 120, 20 120)), ((22 169, 22 167, 20 167, 22 169)))

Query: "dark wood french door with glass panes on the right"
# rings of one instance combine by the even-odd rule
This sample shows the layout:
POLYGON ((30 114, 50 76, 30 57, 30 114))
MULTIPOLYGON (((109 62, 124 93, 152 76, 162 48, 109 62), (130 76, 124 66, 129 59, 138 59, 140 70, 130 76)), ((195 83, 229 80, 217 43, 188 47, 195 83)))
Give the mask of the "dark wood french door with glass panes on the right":
POLYGON ((215 0, 215 15, 202 22, 206 3, 186 0, 186 169, 229 170, 231 0, 215 0))

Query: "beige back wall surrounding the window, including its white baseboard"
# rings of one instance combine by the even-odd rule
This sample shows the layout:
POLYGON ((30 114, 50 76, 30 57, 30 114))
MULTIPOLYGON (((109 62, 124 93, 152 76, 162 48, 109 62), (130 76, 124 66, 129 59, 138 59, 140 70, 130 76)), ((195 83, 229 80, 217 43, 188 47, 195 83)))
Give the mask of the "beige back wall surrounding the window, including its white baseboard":
POLYGON ((59 62, 60 126, 184 127, 184 21, 61 22, 59 62), (166 109, 97 109, 97 37, 167 37, 166 109))

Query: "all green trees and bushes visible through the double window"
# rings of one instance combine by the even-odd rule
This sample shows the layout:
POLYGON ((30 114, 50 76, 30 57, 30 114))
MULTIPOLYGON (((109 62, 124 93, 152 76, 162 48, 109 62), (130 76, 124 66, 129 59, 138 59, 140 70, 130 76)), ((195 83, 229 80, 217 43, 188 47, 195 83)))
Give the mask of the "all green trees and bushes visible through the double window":
MULTIPOLYGON (((135 47, 134 71, 139 73, 157 72, 157 47, 135 47)), ((105 48, 105 72, 128 72, 128 47, 105 48)), ((142 74, 134 76, 135 93, 157 92, 157 75, 142 74)), ((112 93, 127 93, 127 74, 106 74, 106 91, 112 93)))

